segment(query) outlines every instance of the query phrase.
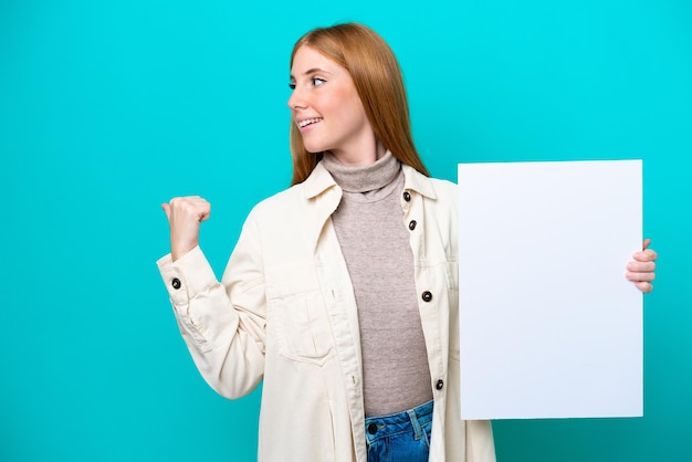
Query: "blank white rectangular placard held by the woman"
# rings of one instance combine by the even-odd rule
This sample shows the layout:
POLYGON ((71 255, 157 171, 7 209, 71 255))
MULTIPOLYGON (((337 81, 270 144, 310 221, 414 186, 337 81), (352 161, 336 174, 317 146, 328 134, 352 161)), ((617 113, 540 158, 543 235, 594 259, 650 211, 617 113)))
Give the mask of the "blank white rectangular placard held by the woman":
POLYGON ((463 419, 642 416, 641 170, 459 165, 463 419))

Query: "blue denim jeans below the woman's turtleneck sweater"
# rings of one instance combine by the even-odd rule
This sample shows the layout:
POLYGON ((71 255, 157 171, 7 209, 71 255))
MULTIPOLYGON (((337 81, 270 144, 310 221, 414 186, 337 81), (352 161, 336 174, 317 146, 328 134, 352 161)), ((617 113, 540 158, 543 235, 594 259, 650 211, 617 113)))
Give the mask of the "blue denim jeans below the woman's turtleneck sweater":
POLYGON ((407 411, 365 419, 368 462, 427 462, 432 400, 407 411))

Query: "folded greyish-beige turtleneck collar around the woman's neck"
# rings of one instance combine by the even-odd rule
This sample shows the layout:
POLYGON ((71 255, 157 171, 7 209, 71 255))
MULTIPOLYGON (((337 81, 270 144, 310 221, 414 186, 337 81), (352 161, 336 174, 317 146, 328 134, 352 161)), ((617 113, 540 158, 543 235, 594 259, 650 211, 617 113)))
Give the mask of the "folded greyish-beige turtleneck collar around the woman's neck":
POLYGON ((369 192, 391 183, 401 171, 401 162, 388 150, 374 164, 349 167, 339 162, 331 153, 322 159, 334 181, 346 192, 369 192))

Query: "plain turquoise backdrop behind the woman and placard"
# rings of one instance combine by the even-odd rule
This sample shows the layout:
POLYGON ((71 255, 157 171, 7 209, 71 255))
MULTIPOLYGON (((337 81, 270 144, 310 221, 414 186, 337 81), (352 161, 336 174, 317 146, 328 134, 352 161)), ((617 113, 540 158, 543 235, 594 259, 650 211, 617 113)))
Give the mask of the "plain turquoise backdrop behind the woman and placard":
POLYGON ((155 265, 159 204, 212 202, 220 275, 247 212, 290 181, 293 42, 349 20, 397 53, 433 176, 643 159, 661 254, 646 414, 499 421, 499 461, 692 461, 689 0, 2 0, 1 461, 254 460, 260 393, 228 401, 196 371, 155 265))

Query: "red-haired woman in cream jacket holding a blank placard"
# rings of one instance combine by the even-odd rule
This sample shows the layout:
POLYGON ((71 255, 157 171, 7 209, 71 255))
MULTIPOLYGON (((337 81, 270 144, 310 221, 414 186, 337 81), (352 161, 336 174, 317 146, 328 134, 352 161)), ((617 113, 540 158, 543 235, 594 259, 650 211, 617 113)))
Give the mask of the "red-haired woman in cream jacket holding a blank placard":
MULTIPOLYGON (((210 204, 162 204, 197 367, 229 398, 264 381, 260 460, 493 461, 490 423, 459 419, 457 189, 428 178, 396 57, 364 25, 316 29, 291 87, 293 187, 252 210, 221 283, 210 204)), ((629 263, 643 292, 654 260, 629 263)))

